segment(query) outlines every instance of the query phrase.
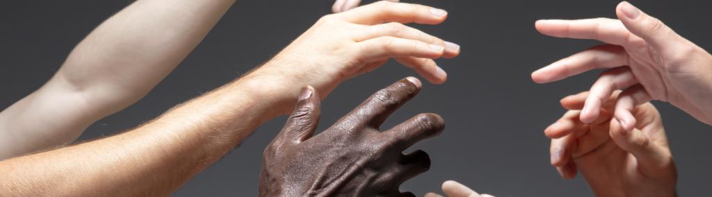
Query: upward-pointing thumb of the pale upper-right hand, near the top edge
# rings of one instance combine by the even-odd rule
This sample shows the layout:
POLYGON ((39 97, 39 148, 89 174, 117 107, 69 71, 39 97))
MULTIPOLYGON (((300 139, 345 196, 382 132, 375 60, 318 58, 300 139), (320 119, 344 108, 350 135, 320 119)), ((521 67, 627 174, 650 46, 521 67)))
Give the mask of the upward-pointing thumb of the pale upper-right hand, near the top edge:
POLYGON ((676 47, 684 46, 679 44, 684 41, 684 38, 658 18, 645 14, 627 1, 618 4, 616 14, 628 31, 643 38, 646 43, 659 52, 672 52, 676 51, 676 47))

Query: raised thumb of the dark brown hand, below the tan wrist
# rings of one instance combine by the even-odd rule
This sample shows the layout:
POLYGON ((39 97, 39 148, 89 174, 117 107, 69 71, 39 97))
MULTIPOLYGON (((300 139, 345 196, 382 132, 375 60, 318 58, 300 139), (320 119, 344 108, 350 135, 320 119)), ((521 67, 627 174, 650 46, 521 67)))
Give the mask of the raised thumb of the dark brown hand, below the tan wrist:
POLYGON ((294 112, 287 119, 280 137, 285 142, 300 143, 312 137, 319 124, 321 100, 314 87, 304 87, 294 112))

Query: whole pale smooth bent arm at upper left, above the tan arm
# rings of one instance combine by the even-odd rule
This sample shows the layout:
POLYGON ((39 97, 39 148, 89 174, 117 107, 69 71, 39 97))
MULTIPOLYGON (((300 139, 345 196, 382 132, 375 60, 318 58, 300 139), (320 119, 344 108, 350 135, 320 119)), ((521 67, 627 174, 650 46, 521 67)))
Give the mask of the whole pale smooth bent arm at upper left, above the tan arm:
POLYGON ((0 113, 0 160, 73 142, 93 122, 140 100, 232 4, 141 0, 109 18, 43 87, 0 113))

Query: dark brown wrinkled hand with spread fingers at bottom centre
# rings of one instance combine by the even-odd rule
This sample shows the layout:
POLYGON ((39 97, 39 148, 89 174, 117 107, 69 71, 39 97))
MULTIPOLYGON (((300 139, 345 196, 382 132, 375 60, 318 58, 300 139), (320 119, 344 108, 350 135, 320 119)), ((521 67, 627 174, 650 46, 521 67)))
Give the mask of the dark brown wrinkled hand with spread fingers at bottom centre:
POLYGON ((287 124, 264 151, 260 196, 413 196, 398 188, 427 171, 430 159, 424 151, 402 151, 440 134, 444 121, 422 114, 384 132, 379 126, 420 88, 416 78, 396 82, 315 137, 320 99, 313 88, 302 90, 287 124))

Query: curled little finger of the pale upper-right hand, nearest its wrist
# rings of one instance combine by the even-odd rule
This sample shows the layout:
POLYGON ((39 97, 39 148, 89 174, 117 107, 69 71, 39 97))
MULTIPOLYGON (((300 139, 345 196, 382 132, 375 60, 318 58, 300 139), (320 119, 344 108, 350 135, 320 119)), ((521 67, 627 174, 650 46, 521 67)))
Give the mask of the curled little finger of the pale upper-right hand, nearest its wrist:
POLYGON ((636 106, 642 105, 652 100, 642 85, 634 85, 621 92, 616 102, 615 117, 625 131, 632 131, 636 125, 636 118, 633 110, 636 106))

